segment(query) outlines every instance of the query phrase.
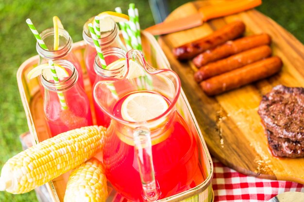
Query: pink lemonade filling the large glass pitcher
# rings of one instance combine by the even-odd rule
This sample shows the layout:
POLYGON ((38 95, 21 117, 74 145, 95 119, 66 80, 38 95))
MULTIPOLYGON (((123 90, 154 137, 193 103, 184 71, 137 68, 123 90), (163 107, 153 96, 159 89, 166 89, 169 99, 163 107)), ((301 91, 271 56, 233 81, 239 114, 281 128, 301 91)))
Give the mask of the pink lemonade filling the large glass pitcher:
MULTIPOLYGON (((132 108, 132 102, 141 102, 144 103, 143 105, 154 103, 155 105, 151 106, 152 111, 157 111, 159 106, 164 106, 164 108, 167 106, 168 109, 170 105, 169 99, 160 93, 137 91, 126 94, 114 104, 114 116, 120 119, 128 116, 138 119, 136 109, 132 108), (126 103, 130 103, 130 109, 125 109, 128 108, 126 103)), ((145 113, 150 113, 150 111, 141 112, 143 116, 145 113)), ((144 119, 145 117, 142 118, 144 119)), ((173 109, 170 115, 158 119, 157 123, 150 127, 152 159, 159 199, 197 186, 194 177, 199 170, 198 147, 181 115, 173 109)), ((103 150, 107 178, 123 196, 131 201, 143 202, 142 183, 135 157, 132 132, 128 135, 130 130, 126 127, 119 128, 118 124, 112 123, 109 130, 113 134, 106 139, 103 150)))

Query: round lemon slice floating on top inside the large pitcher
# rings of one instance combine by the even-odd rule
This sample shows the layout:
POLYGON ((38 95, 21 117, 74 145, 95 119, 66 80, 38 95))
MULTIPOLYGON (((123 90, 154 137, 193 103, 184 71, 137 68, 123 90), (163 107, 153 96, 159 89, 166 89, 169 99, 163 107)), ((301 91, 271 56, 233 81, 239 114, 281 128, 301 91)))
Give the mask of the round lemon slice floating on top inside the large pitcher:
MULTIPOLYGON (((160 94, 148 92, 133 93, 123 101, 121 116, 126 121, 145 122, 160 116, 168 108, 167 101, 160 94)), ((149 125, 149 127, 160 125, 163 121, 163 119, 160 119, 155 123, 153 122, 153 125, 149 125)))

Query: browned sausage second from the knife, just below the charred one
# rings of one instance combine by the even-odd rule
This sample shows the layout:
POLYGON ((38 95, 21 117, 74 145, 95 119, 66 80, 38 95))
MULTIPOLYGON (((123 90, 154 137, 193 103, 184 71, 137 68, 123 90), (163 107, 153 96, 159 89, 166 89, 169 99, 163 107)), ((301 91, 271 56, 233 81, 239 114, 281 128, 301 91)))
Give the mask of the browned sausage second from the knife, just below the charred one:
POLYGON ((214 49, 206 50, 205 52, 193 58, 192 62, 196 67, 201 67, 208 62, 217 61, 244 50, 251 49, 253 47, 270 45, 270 43, 271 38, 266 33, 246 36, 240 39, 236 39, 235 41, 227 41, 225 44, 220 45, 214 49))

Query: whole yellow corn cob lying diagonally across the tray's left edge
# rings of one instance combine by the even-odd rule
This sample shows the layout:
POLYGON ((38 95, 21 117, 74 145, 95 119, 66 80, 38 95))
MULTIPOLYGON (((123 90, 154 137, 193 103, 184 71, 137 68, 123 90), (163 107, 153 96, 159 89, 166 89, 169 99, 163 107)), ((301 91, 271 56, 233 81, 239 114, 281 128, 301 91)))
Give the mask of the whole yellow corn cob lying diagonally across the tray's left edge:
POLYGON ((86 126, 44 140, 3 166, 0 191, 21 194, 74 169, 103 147, 106 128, 86 126))

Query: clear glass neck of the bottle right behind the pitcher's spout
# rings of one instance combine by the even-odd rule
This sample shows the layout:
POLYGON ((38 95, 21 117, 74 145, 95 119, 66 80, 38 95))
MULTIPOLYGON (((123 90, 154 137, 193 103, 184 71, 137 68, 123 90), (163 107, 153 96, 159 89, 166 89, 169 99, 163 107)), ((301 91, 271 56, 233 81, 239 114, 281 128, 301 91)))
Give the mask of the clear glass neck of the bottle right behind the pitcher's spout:
MULTIPOLYGON (((107 65, 126 57, 125 51, 117 47, 108 47, 105 48, 102 52, 107 65)), ((104 69, 101 66, 99 56, 95 56, 94 71, 97 76, 101 78, 123 78, 126 72, 126 68, 127 66, 124 62, 121 65, 114 67, 114 69, 104 69)))

